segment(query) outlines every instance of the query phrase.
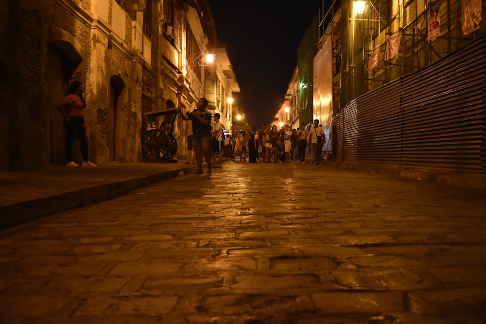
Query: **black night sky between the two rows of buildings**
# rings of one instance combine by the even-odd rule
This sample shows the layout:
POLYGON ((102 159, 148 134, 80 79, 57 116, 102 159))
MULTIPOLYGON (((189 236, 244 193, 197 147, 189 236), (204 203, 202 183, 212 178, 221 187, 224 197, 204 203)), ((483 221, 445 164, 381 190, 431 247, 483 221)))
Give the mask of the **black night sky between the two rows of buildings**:
POLYGON ((322 0, 209 0, 217 38, 240 85, 233 106, 250 126, 275 117, 297 66, 297 46, 322 0))

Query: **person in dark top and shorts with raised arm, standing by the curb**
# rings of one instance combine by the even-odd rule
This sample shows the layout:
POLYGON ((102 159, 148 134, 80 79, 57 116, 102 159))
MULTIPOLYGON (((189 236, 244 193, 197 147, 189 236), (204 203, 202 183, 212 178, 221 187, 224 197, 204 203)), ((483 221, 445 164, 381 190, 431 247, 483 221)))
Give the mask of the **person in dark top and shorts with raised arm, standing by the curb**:
POLYGON ((183 120, 192 121, 192 149, 194 150, 194 157, 196 158, 197 171, 195 174, 203 173, 203 157, 208 165, 208 173, 211 169, 211 151, 209 143, 211 141, 211 113, 206 111, 208 100, 206 98, 199 98, 196 107, 193 111, 184 115, 182 108, 186 106, 179 103, 177 112, 183 120))

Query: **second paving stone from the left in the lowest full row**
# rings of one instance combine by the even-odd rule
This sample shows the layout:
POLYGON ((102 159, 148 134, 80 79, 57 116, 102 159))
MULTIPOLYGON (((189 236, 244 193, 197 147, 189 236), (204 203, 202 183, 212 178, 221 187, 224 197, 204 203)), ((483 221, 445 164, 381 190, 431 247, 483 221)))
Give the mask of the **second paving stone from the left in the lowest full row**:
POLYGON ((177 300, 176 296, 93 297, 87 299, 72 316, 160 316, 172 312, 177 300))

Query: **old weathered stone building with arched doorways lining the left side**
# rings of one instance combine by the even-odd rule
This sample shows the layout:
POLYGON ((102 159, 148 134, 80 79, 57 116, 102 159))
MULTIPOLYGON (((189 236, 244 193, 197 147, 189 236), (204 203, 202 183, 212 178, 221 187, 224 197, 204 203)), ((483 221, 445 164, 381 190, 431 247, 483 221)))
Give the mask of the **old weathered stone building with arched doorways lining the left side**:
MULTIPOLYGON (((223 112, 239 91, 207 1, 0 0, 0 9, 0 170, 66 163, 56 106, 73 80, 85 85, 97 164, 145 161, 141 136, 168 119, 167 100, 191 105, 210 92, 223 112), (208 50, 223 51, 217 65, 197 60, 208 50)), ((172 131, 184 155, 184 124, 172 131)))

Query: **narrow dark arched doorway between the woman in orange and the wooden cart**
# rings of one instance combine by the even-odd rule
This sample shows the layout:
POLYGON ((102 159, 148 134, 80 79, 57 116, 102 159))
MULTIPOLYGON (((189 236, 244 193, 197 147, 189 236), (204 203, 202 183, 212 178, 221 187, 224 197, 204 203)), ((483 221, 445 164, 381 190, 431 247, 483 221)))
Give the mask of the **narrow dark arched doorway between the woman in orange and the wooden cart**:
MULTIPOLYGON (((123 102, 121 92, 125 88, 125 83, 119 75, 110 77, 110 103, 108 107, 108 151, 110 161, 124 161, 122 154, 123 143, 125 141, 122 129, 123 102)), ((121 162, 123 162, 121 161, 121 162)))

